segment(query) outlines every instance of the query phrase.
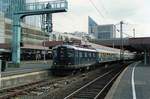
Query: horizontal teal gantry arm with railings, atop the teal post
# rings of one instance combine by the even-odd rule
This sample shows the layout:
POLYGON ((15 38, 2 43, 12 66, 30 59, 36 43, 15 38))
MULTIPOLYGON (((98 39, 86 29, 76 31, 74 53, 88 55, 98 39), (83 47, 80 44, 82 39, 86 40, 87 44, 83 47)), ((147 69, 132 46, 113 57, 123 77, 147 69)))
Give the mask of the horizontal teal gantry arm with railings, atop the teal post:
POLYGON ((39 15, 46 13, 60 13, 67 12, 68 2, 66 0, 61 1, 45 1, 45 2, 34 2, 22 5, 20 10, 16 11, 15 14, 23 15, 39 15))

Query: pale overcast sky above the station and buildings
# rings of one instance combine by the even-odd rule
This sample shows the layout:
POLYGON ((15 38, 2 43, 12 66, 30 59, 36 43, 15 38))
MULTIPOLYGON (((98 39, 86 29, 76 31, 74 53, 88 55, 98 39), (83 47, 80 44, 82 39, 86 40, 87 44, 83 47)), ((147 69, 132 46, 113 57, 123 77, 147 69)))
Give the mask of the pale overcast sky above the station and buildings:
MULTIPOLYGON (((43 1, 43 0, 41 0, 43 1)), ((150 36, 150 0, 68 0, 69 9, 65 13, 53 14, 55 31, 74 32, 88 30, 88 16, 98 24, 117 24, 123 20, 128 25, 124 32, 132 36, 132 29, 136 29, 136 36, 150 36)))

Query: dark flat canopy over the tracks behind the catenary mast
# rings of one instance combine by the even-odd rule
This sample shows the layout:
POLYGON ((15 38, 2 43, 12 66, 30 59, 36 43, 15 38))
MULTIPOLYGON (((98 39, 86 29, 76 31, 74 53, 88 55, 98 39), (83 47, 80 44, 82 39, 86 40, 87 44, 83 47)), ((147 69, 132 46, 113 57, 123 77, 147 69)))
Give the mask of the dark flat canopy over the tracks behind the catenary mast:
MULTIPOLYGON (((106 39, 106 40, 91 40, 92 43, 120 48, 121 39, 106 39)), ((138 38, 124 38, 123 48, 130 51, 143 52, 144 50, 150 50, 150 37, 138 37, 138 38)))

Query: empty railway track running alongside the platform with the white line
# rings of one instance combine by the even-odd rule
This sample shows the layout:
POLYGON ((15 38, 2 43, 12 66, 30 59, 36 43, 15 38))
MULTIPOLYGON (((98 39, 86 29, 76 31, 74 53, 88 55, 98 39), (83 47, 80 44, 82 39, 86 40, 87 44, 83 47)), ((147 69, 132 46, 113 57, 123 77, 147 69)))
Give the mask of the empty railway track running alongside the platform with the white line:
POLYGON ((64 99, 103 99, 106 90, 122 70, 111 70, 74 91, 64 99))

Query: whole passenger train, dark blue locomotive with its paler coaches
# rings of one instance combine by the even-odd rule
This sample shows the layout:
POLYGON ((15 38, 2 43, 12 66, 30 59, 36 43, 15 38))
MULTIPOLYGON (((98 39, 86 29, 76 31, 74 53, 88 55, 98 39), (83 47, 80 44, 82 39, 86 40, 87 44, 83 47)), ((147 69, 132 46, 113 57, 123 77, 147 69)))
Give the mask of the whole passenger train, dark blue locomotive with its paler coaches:
MULTIPOLYGON (((53 48, 52 70, 58 73, 69 72, 76 69, 90 68, 97 63, 120 60, 120 51, 104 50, 101 48, 81 48, 73 45, 59 45, 53 48)), ((134 54, 125 52, 124 59, 133 59, 134 54)))

